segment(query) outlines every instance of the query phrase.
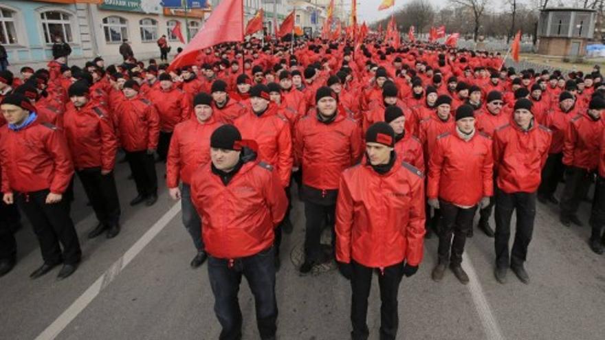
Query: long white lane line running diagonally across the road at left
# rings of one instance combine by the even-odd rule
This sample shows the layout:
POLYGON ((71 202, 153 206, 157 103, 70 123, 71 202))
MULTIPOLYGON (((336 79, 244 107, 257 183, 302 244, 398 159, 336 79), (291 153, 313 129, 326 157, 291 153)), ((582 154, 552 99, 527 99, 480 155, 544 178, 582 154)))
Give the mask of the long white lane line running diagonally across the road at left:
POLYGON ((59 317, 53 321, 43 332, 40 333, 36 340, 52 340, 61 333, 70 322, 82 313, 82 311, 92 302, 92 300, 99 295, 99 293, 106 288, 111 281, 118 277, 120 272, 140 253, 146 245, 159 234, 170 220, 172 220, 181 211, 181 203, 176 203, 173 207, 159 218, 151 228, 146 231, 141 238, 135 242, 130 249, 120 256, 118 260, 111 264, 111 267, 107 269, 88 289, 74 301, 59 317))

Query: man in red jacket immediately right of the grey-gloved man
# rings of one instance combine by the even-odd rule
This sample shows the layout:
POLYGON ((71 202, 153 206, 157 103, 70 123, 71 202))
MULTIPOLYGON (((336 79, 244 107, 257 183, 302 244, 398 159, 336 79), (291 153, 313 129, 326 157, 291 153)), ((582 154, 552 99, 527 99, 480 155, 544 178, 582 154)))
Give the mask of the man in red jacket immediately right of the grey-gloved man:
POLYGON ((501 126, 494 134, 494 170, 496 184, 496 270, 498 282, 506 282, 510 266, 519 280, 529 284, 523 262, 533 234, 536 217, 536 190, 540 185, 540 169, 548 157, 551 131, 536 124, 531 101, 517 100, 511 124, 501 126), (509 251, 511 216, 516 210, 516 234, 509 251))

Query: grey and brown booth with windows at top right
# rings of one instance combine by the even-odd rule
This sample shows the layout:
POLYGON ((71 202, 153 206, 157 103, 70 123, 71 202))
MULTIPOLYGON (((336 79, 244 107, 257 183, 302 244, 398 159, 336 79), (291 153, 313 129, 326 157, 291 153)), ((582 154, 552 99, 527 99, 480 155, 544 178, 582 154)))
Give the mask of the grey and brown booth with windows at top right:
POLYGON ((584 8, 546 8, 538 21, 538 54, 581 57, 595 34, 597 11, 584 8))

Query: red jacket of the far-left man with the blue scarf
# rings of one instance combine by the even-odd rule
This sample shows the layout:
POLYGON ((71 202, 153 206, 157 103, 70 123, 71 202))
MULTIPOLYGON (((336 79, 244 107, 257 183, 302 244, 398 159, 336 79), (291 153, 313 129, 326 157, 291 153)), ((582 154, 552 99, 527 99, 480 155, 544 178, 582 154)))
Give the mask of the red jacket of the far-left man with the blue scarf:
POLYGON ((74 175, 74 164, 63 133, 35 120, 19 131, 0 128, 2 192, 50 189, 63 194, 74 175))

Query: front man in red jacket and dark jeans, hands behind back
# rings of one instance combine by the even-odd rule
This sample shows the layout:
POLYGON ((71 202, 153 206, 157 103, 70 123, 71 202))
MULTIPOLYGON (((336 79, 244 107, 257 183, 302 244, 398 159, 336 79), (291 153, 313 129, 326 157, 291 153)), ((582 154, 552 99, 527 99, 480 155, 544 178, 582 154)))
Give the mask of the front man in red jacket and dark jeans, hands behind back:
POLYGON ((210 136, 210 159, 191 179, 191 199, 202 216, 214 313, 220 339, 241 339, 239 285, 245 276, 254 295, 261 339, 275 339, 274 228, 287 201, 272 166, 243 147, 237 128, 223 125, 210 136))

